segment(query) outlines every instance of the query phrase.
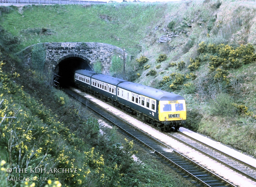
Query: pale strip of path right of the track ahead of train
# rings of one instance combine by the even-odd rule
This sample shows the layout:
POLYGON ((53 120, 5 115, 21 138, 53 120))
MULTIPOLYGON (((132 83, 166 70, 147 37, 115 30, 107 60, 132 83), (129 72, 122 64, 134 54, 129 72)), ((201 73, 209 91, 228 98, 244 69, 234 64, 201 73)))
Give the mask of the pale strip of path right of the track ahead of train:
POLYGON ((231 149, 229 148, 228 146, 224 146, 222 145, 220 142, 216 142, 214 140, 211 140, 207 137, 204 137, 200 134, 197 134, 196 132, 193 132, 193 131, 190 131, 188 129, 185 129, 183 127, 180 127, 179 129, 180 132, 186 134, 187 136, 191 137, 191 138, 194 138, 200 142, 203 142, 204 144, 207 144, 215 149, 218 149, 220 150, 221 152, 223 153, 226 153, 232 157, 235 157, 236 159, 240 160, 240 161, 243 161, 253 167, 256 168, 256 159, 250 157, 250 156, 247 156, 243 153, 240 153, 234 149, 231 149))

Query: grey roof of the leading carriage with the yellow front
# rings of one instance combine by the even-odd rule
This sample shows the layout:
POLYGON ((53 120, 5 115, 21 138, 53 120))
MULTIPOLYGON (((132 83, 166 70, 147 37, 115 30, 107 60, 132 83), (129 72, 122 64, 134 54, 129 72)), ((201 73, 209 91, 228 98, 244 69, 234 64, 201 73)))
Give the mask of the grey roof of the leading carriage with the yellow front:
POLYGON ((137 83, 128 82, 128 81, 118 84, 118 87, 140 94, 140 95, 144 95, 146 97, 150 97, 152 99, 156 99, 158 101, 184 100, 184 97, 180 95, 166 92, 163 90, 158 90, 156 88, 151 88, 149 86, 140 85, 137 83))

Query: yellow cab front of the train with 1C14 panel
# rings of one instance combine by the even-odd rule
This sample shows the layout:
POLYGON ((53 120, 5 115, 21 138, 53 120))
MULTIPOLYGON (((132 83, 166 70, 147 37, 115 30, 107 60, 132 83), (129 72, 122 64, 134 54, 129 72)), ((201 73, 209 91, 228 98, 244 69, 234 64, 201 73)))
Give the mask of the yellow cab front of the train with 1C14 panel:
POLYGON ((159 121, 165 125, 177 122, 185 124, 187 118, 185 100, 159 101, 159 121))

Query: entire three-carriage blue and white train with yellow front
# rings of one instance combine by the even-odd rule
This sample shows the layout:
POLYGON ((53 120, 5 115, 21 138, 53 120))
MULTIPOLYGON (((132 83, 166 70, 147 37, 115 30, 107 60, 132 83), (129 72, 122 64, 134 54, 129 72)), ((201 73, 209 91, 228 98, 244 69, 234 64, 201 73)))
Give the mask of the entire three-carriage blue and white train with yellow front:
POLYGON ((75 71, 74 82, 162 131, 178 130, 186 123, 186 103, 180 95, 88 70, 75 71))

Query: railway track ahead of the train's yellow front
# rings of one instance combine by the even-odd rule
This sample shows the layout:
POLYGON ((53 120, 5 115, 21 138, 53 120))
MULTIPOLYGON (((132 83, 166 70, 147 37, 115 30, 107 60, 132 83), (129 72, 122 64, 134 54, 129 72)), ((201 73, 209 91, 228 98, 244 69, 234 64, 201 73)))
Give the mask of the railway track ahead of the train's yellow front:
POLYGON ((167 134, 172 138, 178 140, 179 142, 195 149, 196 151, 206 155, 207 157, 210 157, 211 159, 256 182, 256 168, 249 165, 248 163, 245 163, 231 155, 223 153, 212 146, 196 140, 195 138, 191 138, 188 135, 183 134, 182 132, 173 132, 167 134))

